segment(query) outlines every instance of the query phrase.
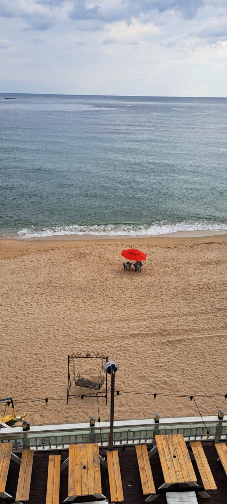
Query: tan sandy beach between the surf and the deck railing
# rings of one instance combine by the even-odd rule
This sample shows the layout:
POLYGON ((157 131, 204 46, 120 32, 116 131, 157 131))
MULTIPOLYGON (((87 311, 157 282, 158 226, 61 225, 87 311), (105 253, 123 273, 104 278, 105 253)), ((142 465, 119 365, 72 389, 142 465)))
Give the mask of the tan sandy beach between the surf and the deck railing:
MULTIPOLYGON (((0 240, 1 397, 33 425, 98 419, 96 398, 66 405, 67 355, 92 350, 119 363, 116 389, 167 394, 120 394, 115 419, 198 415, 168 394, 227 393, 226 251, 227 235, 0 240), (123 271, 132 246, 147 254, 141 274, 123 271), (59 400, 24 401, 40 397, 59 400)), ((99 364, 78 372, 97 380, 99 364)), ((107 420, 109 397, 99 403, 107 420)), ((203 415, 227 410, 223 397, 197 403, 203 415)))

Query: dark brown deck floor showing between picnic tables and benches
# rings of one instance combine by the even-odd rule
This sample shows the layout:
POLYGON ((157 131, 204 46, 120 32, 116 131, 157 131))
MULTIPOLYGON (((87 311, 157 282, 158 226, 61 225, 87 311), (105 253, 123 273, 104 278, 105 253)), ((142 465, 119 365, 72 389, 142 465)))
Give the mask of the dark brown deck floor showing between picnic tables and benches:
MULTIPOLYGON (((203 499, 199 495, 197 495, 198 502, 209 502, 209 504, 217 504, 217 502, 226 503, 227 502, 227 478, 225 476, 224 470, 220 462, 217 462, 217 454, 211 443, 204 443, 203 448, 208 459, 212 474, 214 476, 214 480, 217 485, 217 490, 210 491, 210 498, 203 499)), ((105 450, 104 450, 105 452, 105 450)), ((47 467, 48 467, 48 456, 51 453, 60 453, 62 461, 67 457, 67 451, 45 451, 45 452, 35 452, 34 453, 34 462, 33 462, 33 471, 32 471, 32 479, 31 479, 31 489, 30 489, 30 498, 28 504, 45 504, 46 502, 46 484, 47 484, 47 467)), ((120 470, 121 470, 121 478, 123 484, 123 492, 124 492, 124 502, 125 504, 144 504, 145 497, 142 494, 142 488, 139 477, 139 470, 137 465, 137 458, 135 453, 135 447, 126 446, 125 450, 123 447, 118 448, 119 453, 119 462, 120 462, 120 470)), ((101 454, 101 451, 100 451, 101 454)), ((152 472, 154 475, 155 486, 158 488, 163 482, 163 474, 159 461, 159 456, 156 454, 151 459, 152 464, 152 472)), ((197 466, 193 461, 193 467, 195 469, 195 473, 197 476, 198 484, 201 484, 201 479, 198 473, 197 466)), ((6 491, 11 495, 16 495, 17 481, 19 474, 19 465, 15 462, 11 461, 7 487, 6 491)), ((102 490, 104 495, 109 494, 109 482, 108 482, 108 471, 106 470, 106 476, 104 472, 104 467, 101 465, 101 477, 102 477, 102 490), (106 476, 107 476, 107 484, 106 484, 106 476)), ((68 468, 65 468, 61 471, 60 476, 60 502, 62 502, 67 497, 67 482, 68 482, 68 468)), ((82 502, 88 499, 82 499, 78 497, 73 502, 82 502)), ((94 499, 91 499, 94 500, 94 499)), ((4 502, 4 499, 0 497, 0 503, 4 502)), ((6 500, 7 502, 7 500, 6 500)), ((9 500, 8 500, 9 502, 9 500)), ((159 495, 155 500, 157 504, 164 504, 166 502, 165 495, 159 495)))

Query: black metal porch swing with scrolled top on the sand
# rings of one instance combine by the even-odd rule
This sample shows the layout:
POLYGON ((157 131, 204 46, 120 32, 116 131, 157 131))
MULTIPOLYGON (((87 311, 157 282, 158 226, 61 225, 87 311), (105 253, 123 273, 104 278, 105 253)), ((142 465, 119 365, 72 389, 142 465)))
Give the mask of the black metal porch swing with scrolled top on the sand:
MULTIPOLYGON (((99 353, 94 352, 81 352, 75 353, 72 355, 68 355, 68 387, 67 387, 67 402, 69 397, 69 389, 71 387, 70 380, 70 363, 73 361, 73 380, 77 387, 83 387, 85 389, 92 389, 99 391, 104 384, 104 371, 103 365, 108 361, 108 357, 101 355, 99 353), (75 359, 83 358, 83 359, 100 359, 101 360, 101 368, 97 382, 90 380, 89 378, 82 377, 79 372, 75 370, 75 359)), ((71 396, 75 397, 75 396, 71 396)), ((107 376, 106 376, 106 391, 105 397, 107 399, 107 376)))

